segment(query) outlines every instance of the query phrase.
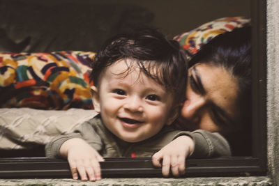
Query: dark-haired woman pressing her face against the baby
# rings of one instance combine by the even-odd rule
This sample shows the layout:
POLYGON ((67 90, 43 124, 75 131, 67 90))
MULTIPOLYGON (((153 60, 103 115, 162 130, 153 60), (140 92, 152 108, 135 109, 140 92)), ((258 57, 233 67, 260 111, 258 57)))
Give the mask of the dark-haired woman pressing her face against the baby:
POLYGON ((186 102, 176 128, 220 132, 234 155, 249 153, 234 148, 250 140, 250 52, 250 26, 216 36, 200 49, 189 62, 186 102))

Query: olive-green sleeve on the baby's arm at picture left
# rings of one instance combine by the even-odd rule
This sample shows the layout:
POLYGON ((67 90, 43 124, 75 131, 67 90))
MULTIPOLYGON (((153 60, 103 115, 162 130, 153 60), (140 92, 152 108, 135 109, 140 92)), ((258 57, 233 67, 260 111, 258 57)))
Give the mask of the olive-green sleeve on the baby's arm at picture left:
MULTIPOLYGON (((93 120, 93 119, 92 119, 93 120)), ((60 157, 59 150, 61 145, 68 139, 81 138, 84 139, 89 145, 91 145, 95 150, 100 151, 102 149, 102 142, 100 136, 94 130, 91 120, 86 121, 77 127, 72 133, 61 134, 54 137, 52 141, 47 143, 45 146, 45 155, 49 158, 60 157)))

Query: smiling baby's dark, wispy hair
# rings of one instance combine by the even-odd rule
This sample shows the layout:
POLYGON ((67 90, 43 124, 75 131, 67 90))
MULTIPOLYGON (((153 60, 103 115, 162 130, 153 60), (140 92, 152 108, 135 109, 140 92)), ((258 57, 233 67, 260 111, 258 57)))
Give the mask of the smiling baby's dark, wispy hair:
POLYGON ((91 63, 93 84, 99 86, 105 68, 121 59, 135 60, 141 72, 174 93, 175 103, 185 100, 187 59, 176 40, 168 40, 155 29, 114 36, 105 42, 91 63))

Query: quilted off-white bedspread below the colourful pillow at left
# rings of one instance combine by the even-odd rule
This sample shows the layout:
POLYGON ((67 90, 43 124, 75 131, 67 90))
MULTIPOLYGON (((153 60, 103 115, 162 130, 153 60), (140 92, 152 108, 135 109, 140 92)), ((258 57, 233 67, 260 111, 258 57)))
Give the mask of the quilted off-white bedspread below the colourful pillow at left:
POLYGON ((96 114, 84 109, 0 109, 0 149, 27 149, 46 144, 54 136, 72 131, 96 114))

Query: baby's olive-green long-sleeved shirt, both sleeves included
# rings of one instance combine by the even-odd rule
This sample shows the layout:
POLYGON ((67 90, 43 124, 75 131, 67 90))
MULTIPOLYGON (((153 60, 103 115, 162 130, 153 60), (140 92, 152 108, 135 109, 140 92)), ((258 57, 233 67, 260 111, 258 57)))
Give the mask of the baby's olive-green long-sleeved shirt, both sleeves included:
POLYGON ((70 134, 55 137, 45 146, 47 157, 59 157, 60 146, 68 139, 81 138, 87 141, 103 157, 151 157, 161 148, 181 135, 193 138, 195 148, 190 157, 205 158, 231 155, 229 144, 217 132, 196 130, 194 132, 174 130, 165 125, 155 136, 137 143, 128 143, 107 130, 100 114, 77 127, 70 134))

